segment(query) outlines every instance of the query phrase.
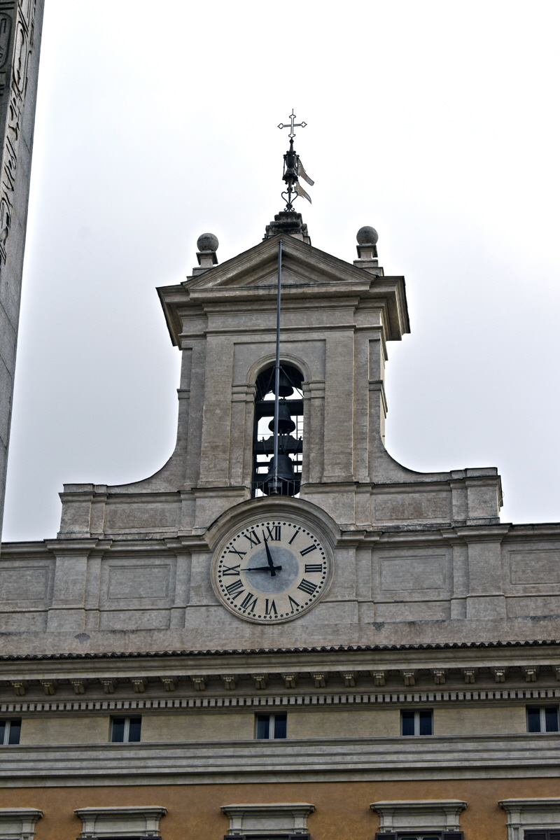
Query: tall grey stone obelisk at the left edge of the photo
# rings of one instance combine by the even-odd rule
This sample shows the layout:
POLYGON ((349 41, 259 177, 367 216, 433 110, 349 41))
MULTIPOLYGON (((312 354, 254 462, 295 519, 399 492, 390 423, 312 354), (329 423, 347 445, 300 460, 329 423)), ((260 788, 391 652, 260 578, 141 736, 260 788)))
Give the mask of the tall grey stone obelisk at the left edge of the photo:
POLYGON ((44 0, 0 2, 0 533, 44 0))

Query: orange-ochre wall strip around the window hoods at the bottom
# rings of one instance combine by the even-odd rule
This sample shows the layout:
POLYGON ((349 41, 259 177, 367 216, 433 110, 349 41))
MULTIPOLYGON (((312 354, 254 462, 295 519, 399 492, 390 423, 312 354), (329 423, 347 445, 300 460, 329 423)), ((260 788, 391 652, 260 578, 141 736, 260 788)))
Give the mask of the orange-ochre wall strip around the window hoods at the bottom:
POLYGON ((142 785, 139 787, 3 788, 0 807, 33 807, 44 811, 35 840, 76 840, 81 820, 73 813, 86 806, 165 806, 160 822, 164 840, 222 840, 228 819, 220 806, 234 802, 311 802, 308 819, 312 840, 373 840, 379 817, 369 803, 379 800, 460 799, 465 840, 507 840, 500 799, 560 796, 558 779, 481 779, 379 782, 300 782, 243 785, 142 785))

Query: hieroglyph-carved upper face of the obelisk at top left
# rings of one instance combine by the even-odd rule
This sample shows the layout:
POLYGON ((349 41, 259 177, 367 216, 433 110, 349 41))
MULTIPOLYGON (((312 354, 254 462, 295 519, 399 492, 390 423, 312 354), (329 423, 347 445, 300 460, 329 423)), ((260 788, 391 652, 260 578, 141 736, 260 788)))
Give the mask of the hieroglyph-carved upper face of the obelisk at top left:
POLYGON ((6 262, 6 243, 13 216, 18 147, 29 56, 33 47, 35 5, 36 0, 0 2, 0 100, 7 94, 9 97, 0 169, 0 265, 6 262))

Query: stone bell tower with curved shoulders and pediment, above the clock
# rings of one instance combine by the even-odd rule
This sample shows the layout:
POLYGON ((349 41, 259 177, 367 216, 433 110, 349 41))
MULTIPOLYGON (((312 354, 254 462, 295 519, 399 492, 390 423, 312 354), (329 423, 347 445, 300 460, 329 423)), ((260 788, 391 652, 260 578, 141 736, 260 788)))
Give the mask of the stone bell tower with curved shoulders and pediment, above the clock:
POLYGON ((219 265, 217 238, 201 236, 199 265, 158 290, 182 356, 175 451, 151 478, 103 486, 101 496, 72 486, 61 533, 99 530, 82 492, 93 491, 97 512, 110 510, 103 528, 124 527, 134 498, 139 510, 150 506, 157 533, 200 532, 230 507, 270 495, 280 242, 280 495, 322 507, 344 528, 499 521, 495 469, 417 473, 385 449, 387 350, 410 328, 404 277, 379 266, 374 228, 360 229, 353 263, 308 238, 301 214, 285 211, 261 243, 219 265))

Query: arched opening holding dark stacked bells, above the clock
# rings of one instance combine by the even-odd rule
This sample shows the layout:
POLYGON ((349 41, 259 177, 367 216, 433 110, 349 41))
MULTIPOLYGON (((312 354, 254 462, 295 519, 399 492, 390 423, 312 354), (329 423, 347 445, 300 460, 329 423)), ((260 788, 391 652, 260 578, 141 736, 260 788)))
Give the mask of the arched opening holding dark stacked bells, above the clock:
MULTIPOLYGON (((303 374, 280 362, 278 412, 278 479, 281 496, 297 496, 301 485, 303 450, 303 374)), ((263 370, 254 398, 252 496, 273 492, 275 449, 275 366, 263 370)))

